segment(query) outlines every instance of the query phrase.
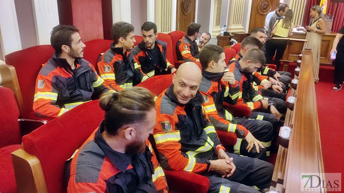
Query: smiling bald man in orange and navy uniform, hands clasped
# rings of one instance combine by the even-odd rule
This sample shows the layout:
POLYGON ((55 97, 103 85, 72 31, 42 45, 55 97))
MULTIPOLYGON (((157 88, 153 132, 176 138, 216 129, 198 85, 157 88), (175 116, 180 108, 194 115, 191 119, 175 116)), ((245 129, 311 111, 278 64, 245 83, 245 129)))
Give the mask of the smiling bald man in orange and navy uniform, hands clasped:
POLYGON ((204 113, 201 79, 196 64, 184 63, 156 100, 153 136, 161 166, 204 175, 210 182, 208 193, 268 190, 273 165, 225 151, 204 113))

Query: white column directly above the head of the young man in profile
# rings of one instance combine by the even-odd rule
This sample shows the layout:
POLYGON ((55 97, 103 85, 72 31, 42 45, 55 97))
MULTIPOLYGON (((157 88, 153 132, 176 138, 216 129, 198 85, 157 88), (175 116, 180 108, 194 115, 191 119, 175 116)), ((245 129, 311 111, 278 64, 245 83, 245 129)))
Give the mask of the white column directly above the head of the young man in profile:
POLYGON ((131 23, 129 0, 112 0, 112 22, 119 21, 131 23))

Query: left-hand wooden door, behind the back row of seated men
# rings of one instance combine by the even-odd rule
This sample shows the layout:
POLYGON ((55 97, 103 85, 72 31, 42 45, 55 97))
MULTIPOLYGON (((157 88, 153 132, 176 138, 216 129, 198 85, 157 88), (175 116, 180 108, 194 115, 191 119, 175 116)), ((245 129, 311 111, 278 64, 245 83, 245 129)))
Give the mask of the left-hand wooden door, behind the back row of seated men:
POLYGON ((196 0, 177 0, 176 30, 185 32, 195 22, 196 0))

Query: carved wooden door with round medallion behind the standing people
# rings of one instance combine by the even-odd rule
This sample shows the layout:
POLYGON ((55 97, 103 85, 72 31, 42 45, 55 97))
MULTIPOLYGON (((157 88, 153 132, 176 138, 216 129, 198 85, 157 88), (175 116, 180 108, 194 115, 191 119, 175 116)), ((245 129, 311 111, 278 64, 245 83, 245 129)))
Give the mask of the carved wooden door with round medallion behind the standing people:
POLYGON ((248 32, 256 27, 264 27, 266 15, 276 9, 278 2, 279 0, 252 0, 248 32))

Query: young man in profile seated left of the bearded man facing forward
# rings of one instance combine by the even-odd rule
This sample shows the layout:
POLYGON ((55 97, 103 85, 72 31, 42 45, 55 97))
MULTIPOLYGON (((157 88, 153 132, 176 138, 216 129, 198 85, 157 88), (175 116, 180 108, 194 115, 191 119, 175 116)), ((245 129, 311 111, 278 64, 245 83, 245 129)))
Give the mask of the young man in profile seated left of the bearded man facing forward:
POLYGON ((114 42, 110 49, 101 54, 98 62, 100 77, 114 89, 131 88, 149 78, 146 76, 130 51, 136 42, 134 26, 127 22, 112 25, 111 37, 114 42))

